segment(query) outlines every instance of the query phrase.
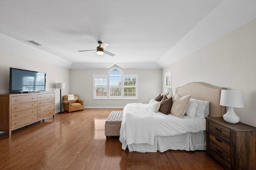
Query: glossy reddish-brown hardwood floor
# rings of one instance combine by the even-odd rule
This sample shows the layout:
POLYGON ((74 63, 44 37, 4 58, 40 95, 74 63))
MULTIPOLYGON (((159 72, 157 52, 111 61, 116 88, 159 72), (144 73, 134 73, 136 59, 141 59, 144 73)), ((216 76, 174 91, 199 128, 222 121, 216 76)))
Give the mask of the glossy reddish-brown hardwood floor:
POLYGON ((104 135, 111 111, 84 109, 56 114, 44 122, 12 131, 0 139, 1 170, 221 170, 205 151, 168 150, 139 153, 122 150, 118 137, 104 135))

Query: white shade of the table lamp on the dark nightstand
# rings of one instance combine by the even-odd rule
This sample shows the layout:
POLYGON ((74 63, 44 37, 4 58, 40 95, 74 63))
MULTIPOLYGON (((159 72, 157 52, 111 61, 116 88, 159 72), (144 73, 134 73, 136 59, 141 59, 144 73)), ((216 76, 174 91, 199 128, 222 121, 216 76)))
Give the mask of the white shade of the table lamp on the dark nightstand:
POLYGON ((221 90, 220 105, 228 107, 244 107, 242 90, 221 90))

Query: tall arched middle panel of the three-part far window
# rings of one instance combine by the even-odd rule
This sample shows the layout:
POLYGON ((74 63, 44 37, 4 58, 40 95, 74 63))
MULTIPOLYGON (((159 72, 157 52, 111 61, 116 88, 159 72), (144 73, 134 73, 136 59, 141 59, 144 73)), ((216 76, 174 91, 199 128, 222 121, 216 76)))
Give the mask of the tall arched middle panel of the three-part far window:
POLYGON ((112 70, 110 72, 109 97, 122 97, 122 75, 119 70, 112 70))

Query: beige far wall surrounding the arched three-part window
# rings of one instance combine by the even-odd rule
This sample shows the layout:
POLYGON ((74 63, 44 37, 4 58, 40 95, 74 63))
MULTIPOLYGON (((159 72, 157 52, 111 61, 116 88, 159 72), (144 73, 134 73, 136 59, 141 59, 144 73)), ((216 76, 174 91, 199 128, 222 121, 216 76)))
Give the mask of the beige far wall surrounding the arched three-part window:
POLYGON ((85 107, 124 107, 127 103, 148 103, 161 93, 162 70, 123 70, 124 74, 138 74, 138 100, 92 99, 93 74, 108 74, 108 70, 70 70, 70 93, 86 100, 85 107))

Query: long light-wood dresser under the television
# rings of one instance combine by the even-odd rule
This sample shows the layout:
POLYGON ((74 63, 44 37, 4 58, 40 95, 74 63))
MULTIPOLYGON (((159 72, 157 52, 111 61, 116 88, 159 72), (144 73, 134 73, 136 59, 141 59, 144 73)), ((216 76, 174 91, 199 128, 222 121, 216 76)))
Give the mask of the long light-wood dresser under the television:
POLYGON ((54 92, 1 94, 0 131, 11 137, 12 131, 45 117, 54 118, 54 92))

